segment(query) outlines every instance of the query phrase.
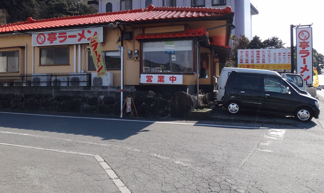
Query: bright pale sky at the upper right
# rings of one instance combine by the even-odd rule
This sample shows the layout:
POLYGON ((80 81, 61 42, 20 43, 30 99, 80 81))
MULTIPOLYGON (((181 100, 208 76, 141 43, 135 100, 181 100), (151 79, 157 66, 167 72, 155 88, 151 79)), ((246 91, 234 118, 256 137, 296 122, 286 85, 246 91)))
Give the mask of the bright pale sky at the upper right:
MULTIPOLYGON (((290 25, 311 25, 313 49, 324 55, 324 1, 322 0, 250 0, 259 11, 252 16, 252 37, 262 41, 277 36, 284 46, 291 45, 290 25)), ((296 30, 294 29, 294 45, 296 30)))

